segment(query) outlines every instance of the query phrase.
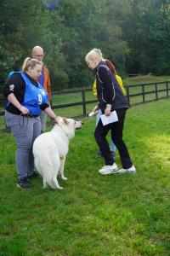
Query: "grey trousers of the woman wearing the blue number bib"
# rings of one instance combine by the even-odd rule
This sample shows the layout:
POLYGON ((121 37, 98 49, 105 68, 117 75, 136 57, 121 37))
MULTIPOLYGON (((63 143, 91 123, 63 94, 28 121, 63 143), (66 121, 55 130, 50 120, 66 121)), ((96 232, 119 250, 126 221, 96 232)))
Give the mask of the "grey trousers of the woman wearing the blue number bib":
POLYGON ((5 111, 6 122, 16 140, 15 162, 19 178, 34 172, 32 145, 41 133, 40 118, 23 117, 5 111))

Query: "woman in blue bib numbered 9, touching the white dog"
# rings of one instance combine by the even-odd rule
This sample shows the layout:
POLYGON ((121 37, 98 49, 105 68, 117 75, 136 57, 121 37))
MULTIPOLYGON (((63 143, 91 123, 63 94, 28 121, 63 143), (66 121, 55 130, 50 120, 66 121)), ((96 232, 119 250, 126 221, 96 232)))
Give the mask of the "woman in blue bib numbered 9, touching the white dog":
POLYGON ((3 88, 8 99, 5 111, 6 122, 17 143, 15 154, 18 172, 17 186, 30 189, 29 179, 36 176, 32 145, 41 133, 41 110, 57 123, 54 111, 48 105, 48 95, 37 78, 42 72, 42 63, 26 58, 22 72, 13 73, 3 88))

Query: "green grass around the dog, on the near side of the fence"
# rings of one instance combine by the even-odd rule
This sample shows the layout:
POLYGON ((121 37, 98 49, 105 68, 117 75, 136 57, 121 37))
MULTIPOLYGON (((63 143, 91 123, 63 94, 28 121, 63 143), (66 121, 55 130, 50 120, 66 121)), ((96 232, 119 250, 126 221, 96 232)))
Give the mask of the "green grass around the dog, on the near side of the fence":
POLYGON ((170 255, 169 110, 167 99, 127 111, 133 176, 99 175, 95 118, 84 119, 61 191, 43 190, 41 178, 30 191, 17 189, 14 138, 1 131, 0 256, 170 255))

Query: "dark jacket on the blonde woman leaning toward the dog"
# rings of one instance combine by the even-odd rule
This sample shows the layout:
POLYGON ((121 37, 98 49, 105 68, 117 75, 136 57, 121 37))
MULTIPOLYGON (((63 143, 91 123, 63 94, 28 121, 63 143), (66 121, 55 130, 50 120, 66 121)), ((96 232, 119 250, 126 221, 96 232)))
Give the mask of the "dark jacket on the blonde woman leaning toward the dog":
POLYGON ((107 104, 111 104, 111 111, 128 108, 127 97, 123 95, 121 87, 105 61, 100 61, 96 68, 96 82, 99 108, 103 113, 107 104))

